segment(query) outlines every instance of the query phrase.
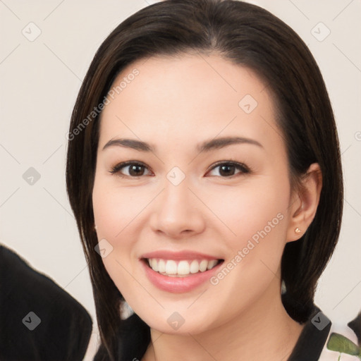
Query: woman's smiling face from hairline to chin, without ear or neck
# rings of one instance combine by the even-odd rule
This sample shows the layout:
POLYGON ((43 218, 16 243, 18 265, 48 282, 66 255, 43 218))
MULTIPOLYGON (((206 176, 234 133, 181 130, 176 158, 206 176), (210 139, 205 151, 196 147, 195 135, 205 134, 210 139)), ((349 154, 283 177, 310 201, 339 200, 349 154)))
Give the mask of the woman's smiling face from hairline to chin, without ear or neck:
POLYGON ((267 86, 216 55, 143 59, 122 81, 102 111, 92 195, 109 276, 165 333, 271 307, 292 197, 267 86))

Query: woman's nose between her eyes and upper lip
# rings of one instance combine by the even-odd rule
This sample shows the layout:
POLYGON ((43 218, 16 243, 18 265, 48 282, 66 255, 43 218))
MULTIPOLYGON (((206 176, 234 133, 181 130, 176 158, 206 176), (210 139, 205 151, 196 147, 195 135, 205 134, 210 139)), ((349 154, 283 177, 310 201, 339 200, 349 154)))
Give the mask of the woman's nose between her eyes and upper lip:
POLYGON ((188 238, 204 230, 202 197, 189 188, 187 178, 173 185, 168 179, 154 202, 151 227, 169 238, 188 238))

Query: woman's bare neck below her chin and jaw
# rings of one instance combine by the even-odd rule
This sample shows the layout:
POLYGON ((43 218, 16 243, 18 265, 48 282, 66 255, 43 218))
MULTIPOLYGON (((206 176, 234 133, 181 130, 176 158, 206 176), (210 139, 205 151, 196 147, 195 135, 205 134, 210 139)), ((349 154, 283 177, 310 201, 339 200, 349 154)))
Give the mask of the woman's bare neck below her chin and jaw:
POLYGON ((151 343, 142 361, 287 360, 304 325, 290 318, 279 287, 257 300, 238 317, 201 334, 169 335, 151 329, 151 343), (273 297, 272 297, 273 296, 273 297), (270 302, 270 300, 273 300, 270 302))

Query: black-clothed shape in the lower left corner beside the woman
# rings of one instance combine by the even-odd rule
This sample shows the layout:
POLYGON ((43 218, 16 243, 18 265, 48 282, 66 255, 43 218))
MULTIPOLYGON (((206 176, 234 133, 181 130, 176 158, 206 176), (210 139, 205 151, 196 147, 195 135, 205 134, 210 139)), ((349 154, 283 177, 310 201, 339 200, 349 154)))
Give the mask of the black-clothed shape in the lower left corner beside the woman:
POLYGON ((1 361, 82 361, 91 334, 78 301, 0 245, 1 361))

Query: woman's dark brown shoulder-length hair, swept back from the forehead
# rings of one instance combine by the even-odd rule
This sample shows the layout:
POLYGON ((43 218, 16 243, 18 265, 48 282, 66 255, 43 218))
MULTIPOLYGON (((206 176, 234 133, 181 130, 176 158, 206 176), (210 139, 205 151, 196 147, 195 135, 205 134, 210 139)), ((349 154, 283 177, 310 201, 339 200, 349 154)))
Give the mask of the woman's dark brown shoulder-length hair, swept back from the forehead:
MULTIPOLYGON (((322 75, 302 39, 269 11, 243 1, 166 0, 142 8, 118 25, 99 47, 78 94, 69 130, 68 197, 89 263, 102 348, 111 360, 125 352, 118 345, 117 334, 126 337, 127 331, 118 312, 122 295, 94 250, 98 240, 92 188, 99 114, 83 129, 79 127, 128 64, 148 56, 192 51, 216 52, 262 77, 279 110, 276 120, 288 150, 291 179, 300 179, 314 162, 321 168, 317 214, 300 240, 287 243, 281 262, 287 288, 282 302, 298 322, 310 317, 317 281, 340 233, 343 176, 336 124, 322 75), (75 129, 79 130, 76 136, 75 129)), ((137 357, 141 358, 149 343, 149 328, 140 319, 134 322, 142 330, 137 345, 137 357)))

